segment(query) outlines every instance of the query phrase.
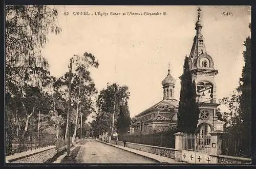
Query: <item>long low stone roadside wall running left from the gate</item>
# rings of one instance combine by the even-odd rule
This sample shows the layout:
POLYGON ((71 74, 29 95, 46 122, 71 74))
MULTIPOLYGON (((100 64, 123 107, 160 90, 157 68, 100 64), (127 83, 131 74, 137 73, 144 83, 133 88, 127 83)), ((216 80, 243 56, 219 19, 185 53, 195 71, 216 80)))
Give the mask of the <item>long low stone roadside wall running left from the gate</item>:
MULTIPOLYGON (((120 142, 120 141, 111 140, 110 143, 123 146, 123 142, 120 142)), ((175 158, 175 149, 172 149, 172 148, 142 145, 142 144, 129 143, 129 142, 126 142, 125 147, 129 147, 129 148, 133 148, 136 150, 141 150, 149 153, 154 153, 157 155, 162 155, 170 158, 175 158)))

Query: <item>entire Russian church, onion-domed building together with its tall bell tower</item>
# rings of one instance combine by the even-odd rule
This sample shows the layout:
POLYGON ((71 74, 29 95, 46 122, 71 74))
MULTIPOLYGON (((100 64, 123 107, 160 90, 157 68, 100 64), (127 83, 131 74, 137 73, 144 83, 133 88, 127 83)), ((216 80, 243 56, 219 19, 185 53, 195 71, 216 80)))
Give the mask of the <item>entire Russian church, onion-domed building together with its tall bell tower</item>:
MULTIPOLYGON (((198 131, 201 135, 207 135, 211 131, 223 131, 224 122, 218 120, 216 116, 217 107, 220 105, 216 102, 215 76, 218 70, 214 68, 214 61, 205 48, 204 37, 201 34, 203 26, 200 21, 200 11, 199 8, 194 43, 186 59, 189 61, 192 80, 196 82, 197 101, 200 103, 198 131)), ((130 126, 130 134, 137 131, 158 132, 168 126, 177 125, 178 101, 174 98, 175 81, 168 70, 167 76, 162 81, 163 100, 135 116, 137 122, 130 126)))

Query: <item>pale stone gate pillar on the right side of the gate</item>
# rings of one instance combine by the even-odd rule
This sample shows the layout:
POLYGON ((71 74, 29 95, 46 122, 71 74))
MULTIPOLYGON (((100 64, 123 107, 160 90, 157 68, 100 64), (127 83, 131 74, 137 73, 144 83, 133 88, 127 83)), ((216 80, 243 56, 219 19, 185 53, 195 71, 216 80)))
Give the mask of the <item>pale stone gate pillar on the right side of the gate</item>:
POLYGON ((224 131, 212 131, 210 132, 210 156, 211 163, 218 163, 217 156, 221 154, 222 139, 221 135, 224 131))

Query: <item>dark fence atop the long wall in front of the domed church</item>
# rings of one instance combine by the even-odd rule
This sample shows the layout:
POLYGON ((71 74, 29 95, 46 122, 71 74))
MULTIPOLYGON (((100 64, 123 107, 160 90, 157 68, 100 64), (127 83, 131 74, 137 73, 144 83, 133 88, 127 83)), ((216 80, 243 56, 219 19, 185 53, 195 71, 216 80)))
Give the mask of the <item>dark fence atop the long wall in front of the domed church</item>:
POLYGON ((175 136, 174 135, 122 135, 118 137, 118 140, 130 143, 137 143, 143 145, 159 146, 175 148, 175 136))

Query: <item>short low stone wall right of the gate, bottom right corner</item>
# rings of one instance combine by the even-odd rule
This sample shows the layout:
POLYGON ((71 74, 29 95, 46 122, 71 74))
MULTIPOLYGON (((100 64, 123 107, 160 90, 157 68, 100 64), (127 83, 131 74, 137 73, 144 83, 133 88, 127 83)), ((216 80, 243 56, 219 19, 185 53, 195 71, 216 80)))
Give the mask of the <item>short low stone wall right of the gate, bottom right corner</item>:
POLYGON ((219 155, 217 157, 218 163, 220 164, 245 164, 251 163, 250 158, 243 158, 243 157, 234 157, 234 156, 227 156, 227 155, 219 155))

